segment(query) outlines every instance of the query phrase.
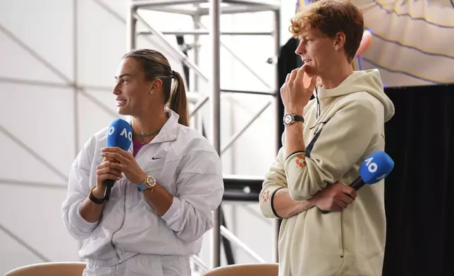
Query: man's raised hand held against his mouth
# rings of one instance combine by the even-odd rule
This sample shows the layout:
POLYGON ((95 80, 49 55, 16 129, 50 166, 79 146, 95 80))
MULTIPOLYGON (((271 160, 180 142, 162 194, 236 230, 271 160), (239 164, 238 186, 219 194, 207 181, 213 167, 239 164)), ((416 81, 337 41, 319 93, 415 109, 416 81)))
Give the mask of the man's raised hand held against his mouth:
POLYGON ((286 82, 281 87, 283 106, 288 113, 302 115, 302 110, 314 92, 316 77, 312 77, 307 88, 303 84, 306 68, 307 65, 302 65, 301 68, 292 70, 290 74, 287 74, 286 82))

